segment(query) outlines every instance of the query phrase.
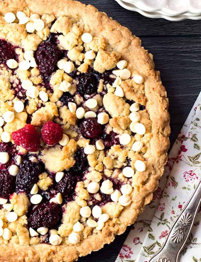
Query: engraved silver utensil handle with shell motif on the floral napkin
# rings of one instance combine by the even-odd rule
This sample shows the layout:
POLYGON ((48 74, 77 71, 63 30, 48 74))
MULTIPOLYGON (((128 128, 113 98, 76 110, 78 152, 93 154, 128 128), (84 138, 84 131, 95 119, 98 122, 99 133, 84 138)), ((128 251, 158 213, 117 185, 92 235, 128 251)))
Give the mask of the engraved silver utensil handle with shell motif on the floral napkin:
POLYGON ((185 246, 201 203, 201 180, 181 214, 177 217, 165 243, 149 262, 178 262, 185 246))

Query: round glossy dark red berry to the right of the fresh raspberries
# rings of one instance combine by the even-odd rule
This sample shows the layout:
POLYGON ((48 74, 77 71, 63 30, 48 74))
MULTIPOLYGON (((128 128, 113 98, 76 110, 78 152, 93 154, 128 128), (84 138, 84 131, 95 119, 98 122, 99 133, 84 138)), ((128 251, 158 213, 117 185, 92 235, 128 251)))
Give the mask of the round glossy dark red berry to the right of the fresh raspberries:
POLYGON ((96 118, 83 119, 79 122, 79 129, 85 138, 100 138, 102 135, 102 126, 96 118))

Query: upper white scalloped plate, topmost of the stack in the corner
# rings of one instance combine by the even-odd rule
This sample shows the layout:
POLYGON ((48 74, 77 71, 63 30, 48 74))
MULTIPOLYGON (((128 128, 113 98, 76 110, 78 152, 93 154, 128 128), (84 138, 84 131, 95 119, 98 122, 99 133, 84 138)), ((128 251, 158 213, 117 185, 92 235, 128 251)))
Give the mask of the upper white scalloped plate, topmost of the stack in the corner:
POLYGON ((200 0, 125 0, 146 12, 163 11, 169 15, 201 14, 200 0))

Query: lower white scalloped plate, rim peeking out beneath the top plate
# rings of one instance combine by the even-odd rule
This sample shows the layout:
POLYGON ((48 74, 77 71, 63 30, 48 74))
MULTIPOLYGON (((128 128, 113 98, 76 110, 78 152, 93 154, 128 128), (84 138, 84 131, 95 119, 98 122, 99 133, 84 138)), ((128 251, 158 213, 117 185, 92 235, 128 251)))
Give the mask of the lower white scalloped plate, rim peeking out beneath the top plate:
POLYGON ((185 19, 191 19, 191 20, 200 20, 201 19, 201 15, 192 14, 192 13, 185 13, 182 15, 174 16, 174 15, 169 15, 164 11, 147 12, 147 11, 143 11, 137 8, 134 4, 130 4, 122 0, 115 0, 115 1, 118 2, 118 4, 122 6, 123 8, 127 10, 131 10, 131 11, 136 11, 140 13, 141 15, 149 17, 149 18, 164 18, 169 21, 182 21, 185 19))

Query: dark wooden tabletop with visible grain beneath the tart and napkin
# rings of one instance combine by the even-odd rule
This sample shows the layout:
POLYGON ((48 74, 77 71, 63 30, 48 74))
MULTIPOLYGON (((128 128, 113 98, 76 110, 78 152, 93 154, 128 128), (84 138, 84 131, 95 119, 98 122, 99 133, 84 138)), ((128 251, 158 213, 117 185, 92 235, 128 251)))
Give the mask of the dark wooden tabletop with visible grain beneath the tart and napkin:
MULTIPOLYGON (((128 27, 153 54, 168 93, 172 145, 201 90, 201 21, 147 18, 123 9, 114 0, 81 2, 94 5, 128 27)), ((129 228, 113 243, 79 258, 78 262, 114 262, 128 233, 129 228)))

